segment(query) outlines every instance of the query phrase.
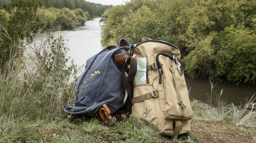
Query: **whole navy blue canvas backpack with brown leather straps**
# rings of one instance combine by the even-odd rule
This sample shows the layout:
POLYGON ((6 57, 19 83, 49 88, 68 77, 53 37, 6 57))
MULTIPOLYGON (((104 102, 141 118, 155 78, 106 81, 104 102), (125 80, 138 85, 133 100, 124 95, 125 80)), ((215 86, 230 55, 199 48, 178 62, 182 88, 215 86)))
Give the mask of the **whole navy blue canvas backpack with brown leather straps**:
POLYGON ((99 114, 103 120, 117 121, 131 113, 137 60, 126 54, 130 49, 131 44, 120 39, 118 47, 109 45, 90 57, 76 85, 74 101, 64 111, 73 115, 99 114))

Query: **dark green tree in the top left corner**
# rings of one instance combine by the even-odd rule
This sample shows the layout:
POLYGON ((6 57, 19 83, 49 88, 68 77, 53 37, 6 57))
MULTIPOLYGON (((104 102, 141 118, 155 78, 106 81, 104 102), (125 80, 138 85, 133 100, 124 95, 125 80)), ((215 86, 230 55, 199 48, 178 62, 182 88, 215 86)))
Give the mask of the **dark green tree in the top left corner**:
POLYGON ((39 0, 11 0, 10 3, 3 6, 10 16, 9 19, 6 19, 7 21, 0 18, 0 26, 4 29, 0 31, 1 67, 6 61, 15 56, 13 51, 22 52, 20 40, 31 37, 35 26, 35 14, 39 6, 41 6, 39 0))

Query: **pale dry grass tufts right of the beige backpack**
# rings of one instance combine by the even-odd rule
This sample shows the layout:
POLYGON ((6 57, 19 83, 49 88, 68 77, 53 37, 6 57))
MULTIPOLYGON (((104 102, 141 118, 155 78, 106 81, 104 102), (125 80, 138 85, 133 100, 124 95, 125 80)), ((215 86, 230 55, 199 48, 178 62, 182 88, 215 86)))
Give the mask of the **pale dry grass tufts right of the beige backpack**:
MULTIPOLYGON (((211 88, 213 89, 216 84, 210 81, 211 88)), ((211 90, 212 91, 212 90, 211 90)), ((194 111, 194 119, 205 121, 225 121, 226 123, 235 124, 236 126, 243 127, 256 127, 256 110, 248 110, 251 103, 256 102, 256 97, 253 95, 249 101, 244 105, 235 106, 234 104, 226 104, 221 101, 221 95, 212 98, 212 92, 208 95, 208 101, 205 104, 201 101, 192 101, 192 109, 194 111)))

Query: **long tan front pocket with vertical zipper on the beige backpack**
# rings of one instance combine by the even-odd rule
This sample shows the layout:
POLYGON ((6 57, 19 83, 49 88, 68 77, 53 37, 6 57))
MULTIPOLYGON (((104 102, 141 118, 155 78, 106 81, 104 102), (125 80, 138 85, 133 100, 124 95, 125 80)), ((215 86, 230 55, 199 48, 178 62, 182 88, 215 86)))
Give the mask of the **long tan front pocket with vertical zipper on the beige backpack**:
POLYGON ((166 120, 187 121, 192 118, 192 109, 184 75, 177 70, 175 61, 162 54, 158 64, 162 71, 162 91, 159 91, 159 105, 166 120))

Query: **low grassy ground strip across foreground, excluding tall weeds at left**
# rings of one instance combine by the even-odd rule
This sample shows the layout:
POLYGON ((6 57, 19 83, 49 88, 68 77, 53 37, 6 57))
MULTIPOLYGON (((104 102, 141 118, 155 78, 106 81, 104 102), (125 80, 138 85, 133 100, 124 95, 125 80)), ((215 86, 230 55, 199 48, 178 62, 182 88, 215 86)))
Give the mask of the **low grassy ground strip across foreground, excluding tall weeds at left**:
MULTIPOLYGON (((0 116, 0 143, 255 143, 256 112, 232 105, 205 107, 192 101, 191 132, 163 137, 151 126, 134 118, 102 122, 91 116, 29 120, 0 116), (245 114, 245 112, 247 112, 245 114)), ((54 117, 53 117, 54 118, 54 117)))

